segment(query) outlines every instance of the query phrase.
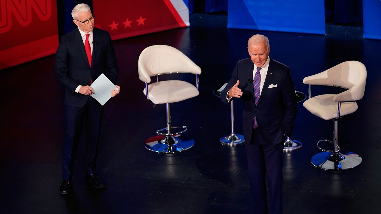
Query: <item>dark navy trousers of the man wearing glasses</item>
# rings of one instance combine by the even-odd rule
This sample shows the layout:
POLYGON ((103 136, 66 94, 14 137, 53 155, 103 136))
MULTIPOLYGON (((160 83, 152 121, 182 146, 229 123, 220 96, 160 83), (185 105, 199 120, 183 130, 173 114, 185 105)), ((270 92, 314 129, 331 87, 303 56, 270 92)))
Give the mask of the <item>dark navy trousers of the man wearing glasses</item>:
POLYGON ((86 119, 86 173, 95 171, 98 155, 99 132, 101 129, 103 106, 93 97, 89 97, 83 107, 65 105, 65 134, 62 155, 62 175, 71 180, 74 171, 75 154, 81 137, 83 120, 86 119))

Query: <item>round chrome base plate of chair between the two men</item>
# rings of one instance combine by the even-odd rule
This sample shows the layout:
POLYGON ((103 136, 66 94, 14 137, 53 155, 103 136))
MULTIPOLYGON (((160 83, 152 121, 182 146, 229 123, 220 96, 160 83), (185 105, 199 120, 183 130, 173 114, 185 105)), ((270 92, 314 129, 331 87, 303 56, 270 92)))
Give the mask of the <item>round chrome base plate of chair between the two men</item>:
POLYGON ((146 140, 144 147, 157 153, 177 153, 190 149, 194 145, 194 140, 184 135, 174 136, 157 135, 146 140), (166 137, 171 137, 171 142, 166 142, 166 137))

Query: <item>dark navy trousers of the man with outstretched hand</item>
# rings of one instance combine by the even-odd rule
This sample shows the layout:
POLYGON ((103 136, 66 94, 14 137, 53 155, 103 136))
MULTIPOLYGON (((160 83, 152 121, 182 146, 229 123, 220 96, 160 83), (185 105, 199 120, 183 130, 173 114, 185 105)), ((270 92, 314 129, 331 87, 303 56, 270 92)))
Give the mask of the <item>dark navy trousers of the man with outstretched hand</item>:
POLYGON ((246 143, 246 155, 250 179, 251 203, 255 214, 282 213, 282 166, 283 143, 267 145, 258 128, 251 133, 250 144, 246 143), (269 186, 270 206, 267 210, 266 180, 269 186))

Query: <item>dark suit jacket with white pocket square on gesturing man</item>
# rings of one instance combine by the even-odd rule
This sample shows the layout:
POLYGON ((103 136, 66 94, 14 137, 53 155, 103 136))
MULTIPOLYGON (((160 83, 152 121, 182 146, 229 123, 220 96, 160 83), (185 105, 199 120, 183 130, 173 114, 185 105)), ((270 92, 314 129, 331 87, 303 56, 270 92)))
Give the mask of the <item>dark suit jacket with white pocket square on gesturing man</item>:
POLYGON ((242 90, 245 141, 251 142, 253 119, 256 116, 258 129, 264 141, 267 145, 275 146, 284 140, 285 134, 291 137, 295 124, 296 94, 290 68, 270 57, 266 80, 264 80, 259 102, 255 106, 252 83, 254 67, 250 58, 238 61, 229 84, 221 92, 221 100, 228 103, 227 92, 239 80, 238 87, 242 90), (268 88, 271 84, 276 84, 277 87, 268 88))

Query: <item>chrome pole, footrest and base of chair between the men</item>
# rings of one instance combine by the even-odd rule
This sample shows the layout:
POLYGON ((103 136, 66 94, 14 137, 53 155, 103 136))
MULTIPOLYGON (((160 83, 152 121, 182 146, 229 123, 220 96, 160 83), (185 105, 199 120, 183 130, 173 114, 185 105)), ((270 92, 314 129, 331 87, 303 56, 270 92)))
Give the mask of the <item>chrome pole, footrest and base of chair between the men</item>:
POLYGON ((190 149, 194 145, 193 139, 181 136, 188 128, 186 126, 172 127, 170 103, 166 104, 166 128, 156 131, 158 136, 147 139, 146 149, 157 153, 177 153, 190 149), (166 131, 166 133, 165 133, 166 131))

